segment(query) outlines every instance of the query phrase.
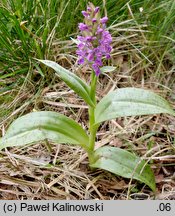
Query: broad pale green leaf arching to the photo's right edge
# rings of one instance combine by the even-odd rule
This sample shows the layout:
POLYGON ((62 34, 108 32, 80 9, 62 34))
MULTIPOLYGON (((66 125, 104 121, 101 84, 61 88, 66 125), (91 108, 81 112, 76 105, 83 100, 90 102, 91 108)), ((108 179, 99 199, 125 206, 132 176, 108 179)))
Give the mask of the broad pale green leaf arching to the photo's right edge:
POLYGON ((168 113, 169 103, 159 95, 139 88, 122 88, 108 93, 95 109, 95 123, 124 116, 168 113))

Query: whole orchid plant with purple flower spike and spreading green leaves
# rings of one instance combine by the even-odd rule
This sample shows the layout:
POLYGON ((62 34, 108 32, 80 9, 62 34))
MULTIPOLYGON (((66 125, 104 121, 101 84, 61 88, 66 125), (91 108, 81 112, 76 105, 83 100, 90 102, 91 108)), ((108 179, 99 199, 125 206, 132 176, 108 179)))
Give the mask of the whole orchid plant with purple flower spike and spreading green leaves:
POLYGON ((33 112, 15 120, 0 140, 0 149, 31 144, 41 140, 79 145, 88 154, 92 168, 110 171, 125 178, 133 178, 155 191, 155 178, 148 163, 127 150, 103 146, 95 148, 97 130, 104 121, 117 117, 168 113, 175 115, 168 102, 159 95, 138 88, 122 88, 96 101, 96 84, 104 71, 113 67, 103 66, 109 59, 112 37, 106 29, 108 18, 100 17, 100 8, 89 3, 82 11, 84 23, 79 24, 77 40, 78 63, 91 68, 91 83, 88 85, 74 73, 49 60, 38 60, 54 69, 60 78, 89 106, 89 130, 62 114, 51 111, 33 112))

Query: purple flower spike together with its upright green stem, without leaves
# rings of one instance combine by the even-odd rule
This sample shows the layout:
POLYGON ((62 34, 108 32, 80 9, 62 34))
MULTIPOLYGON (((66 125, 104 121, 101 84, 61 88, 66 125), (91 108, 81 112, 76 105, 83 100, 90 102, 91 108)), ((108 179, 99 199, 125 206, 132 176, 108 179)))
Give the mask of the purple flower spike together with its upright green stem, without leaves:
MULTIPOLYGON (((79 23, 81 35, 77 37, 78 63, 86 64, 92 69, 90 97, 96 107, 96 84, 103 66, 102 59, 110 58, 112 37, 106 30, 107 17, 100 17, 100 8, 89 3, 87 10, 82 11, 84 23, 79 23)), ((95 124, 95 107, 89 106, 89 146, 88 156, 93 162, 96 133, 99 125, 95 124)))

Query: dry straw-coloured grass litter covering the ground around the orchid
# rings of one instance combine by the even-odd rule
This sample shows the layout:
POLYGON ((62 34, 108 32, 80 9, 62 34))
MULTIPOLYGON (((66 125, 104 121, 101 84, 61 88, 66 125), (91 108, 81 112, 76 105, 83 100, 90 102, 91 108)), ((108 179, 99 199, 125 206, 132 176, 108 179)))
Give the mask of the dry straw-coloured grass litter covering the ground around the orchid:
MULTIPOLYGON (((114 49, 109 64, 117 69, 100 76, 97 98, 115 88, 133 86, 157 92, 175 107, 175 75, 169 58, 165 55, 162 60, 154 52, 147 53, 148 41, 141 27, 134 26, 127 36, 120 34, 123 29, 118 26, 112 28, 114 49)), ((156 42, 152 47, 156 47, 156 42)), ((89 81, 90 71, 77 65, 71 41, 55 41, 53 52, 55 61, 89 81)), ((7 92, 15 97, 1 105, 12 108, 1 121, 2 134, 13 119, 32 110, 60 112, 86 128, 86 104, 54 73, 51 82, 36 92, 41 82, 35 76, 37 71, 29 73, 28 77, 34 78, 27 78, 16 92, 7 92)), ((174 134, 175 118, 168 115, 119 118, 102 124, 97 134, 96 148, 103 145, 125 148, 151 164, 157 183, 155 194, 137 181, 103 170, 90 170, 87 155, 79 147, 51 143, 50 152, 43 142, 0 152, 0 199, 175 199, 174 134)))

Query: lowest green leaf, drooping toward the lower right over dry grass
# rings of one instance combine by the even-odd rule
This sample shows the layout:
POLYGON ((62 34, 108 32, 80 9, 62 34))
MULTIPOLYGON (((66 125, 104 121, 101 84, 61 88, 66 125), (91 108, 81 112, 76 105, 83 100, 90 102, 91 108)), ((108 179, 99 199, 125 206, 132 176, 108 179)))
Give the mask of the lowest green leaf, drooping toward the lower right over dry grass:
POLYGON ((94 153, 95 161, 90 166, 110 171, 124 178, 133 178, 155 191, 155 177, 149 165, 132 153, 116 148, 101 147, 94 153))

